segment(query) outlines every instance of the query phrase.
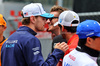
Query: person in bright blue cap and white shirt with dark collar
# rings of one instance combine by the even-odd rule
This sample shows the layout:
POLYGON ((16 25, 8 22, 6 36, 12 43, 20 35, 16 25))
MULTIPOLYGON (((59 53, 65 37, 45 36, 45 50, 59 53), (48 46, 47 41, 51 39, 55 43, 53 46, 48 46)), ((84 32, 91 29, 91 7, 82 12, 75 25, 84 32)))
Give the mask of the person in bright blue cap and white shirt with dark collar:
POLYGON ((63 66, 98 66, 100 51, 100 24, 85 20, 77 26, 78 46, 63 59, 63 66))

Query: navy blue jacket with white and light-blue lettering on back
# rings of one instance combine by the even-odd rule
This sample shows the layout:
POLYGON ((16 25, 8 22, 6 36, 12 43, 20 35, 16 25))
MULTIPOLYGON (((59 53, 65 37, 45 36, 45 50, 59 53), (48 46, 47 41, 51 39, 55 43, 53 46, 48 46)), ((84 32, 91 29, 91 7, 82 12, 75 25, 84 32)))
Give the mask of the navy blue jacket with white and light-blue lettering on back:
POLYGON ((13 33, 2 46, 2 66, 56 66, 63 51, 55 49, 44 62, 41 43, 35 35, 36 32, 26 26, 13 33))

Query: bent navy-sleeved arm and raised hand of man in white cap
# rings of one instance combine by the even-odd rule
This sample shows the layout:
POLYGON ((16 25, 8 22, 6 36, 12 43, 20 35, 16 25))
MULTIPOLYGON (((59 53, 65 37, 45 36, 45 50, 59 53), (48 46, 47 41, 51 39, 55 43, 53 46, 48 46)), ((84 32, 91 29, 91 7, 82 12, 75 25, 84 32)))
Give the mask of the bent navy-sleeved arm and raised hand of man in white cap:
POLYGON ((27 43, 27 45, 24 48, 25 60, 29 66, 33 66, 33 65, 34 66, 56 66, 59 59, 64 56, 62 47, 63 46, 61 46, 60 44, 57 44, 55 47, 56 49, 44 62, 44 59, 41 53, 40 41, 36 39, 34 40, 32 39, 31 41, 27 43))

